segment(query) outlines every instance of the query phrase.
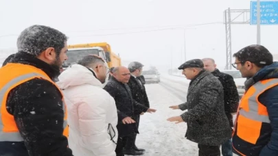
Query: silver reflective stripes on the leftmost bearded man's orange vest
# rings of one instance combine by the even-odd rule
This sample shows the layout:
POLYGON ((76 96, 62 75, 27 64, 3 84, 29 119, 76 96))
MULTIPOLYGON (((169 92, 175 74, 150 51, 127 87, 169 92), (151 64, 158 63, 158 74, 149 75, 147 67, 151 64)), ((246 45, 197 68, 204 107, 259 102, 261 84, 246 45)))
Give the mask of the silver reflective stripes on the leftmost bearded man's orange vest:
MULTIPOLYGON (((16 77, 14 79, 12 79, 11 81, 9 81, 8 83, 5 84, 5 86, 3 86, 3 88, 1 88, 0 90, 0 106, 2 107, 3 101, 7 100, 4 99, 5 94, 7 94, 7 92, 9 91, 9 89, 14 86, 16 83, 19 83, 21 81, 24 81, 25 79, 32 79, 32 77, 42 77, 43 79, 49 79, 47 77, 45 77, 44 75, 40 75, 39 73, 28 73, 26 75, 21 75, 19 77, 16 77)), ((0 108, 1 108, 0 107, 0 108)), ((67 111, 65 109, 65 103, 62 103, 62 109, 64 110, 64 113, 67 111)), ((21 134, 19 133, 19 131, 8 131, 5 132, 3 131, 5 125, 3 125, 3 121, 2 121, 2 114, 0 113, 0 142, 22 142, 23 138, 21 137, 21 134)), ((64 119, 63 122, 63 127, 64 129, 67 128, 67 120, 64 119)))

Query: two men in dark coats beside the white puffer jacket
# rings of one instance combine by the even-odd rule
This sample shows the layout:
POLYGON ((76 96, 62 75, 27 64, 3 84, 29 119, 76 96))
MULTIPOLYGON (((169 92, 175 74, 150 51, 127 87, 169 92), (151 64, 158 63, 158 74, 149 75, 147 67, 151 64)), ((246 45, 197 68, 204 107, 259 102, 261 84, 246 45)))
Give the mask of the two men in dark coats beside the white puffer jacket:
POLYGON ((140 77, 142 70, 143 64, 140 62, 131 62, 128 68, 115 67, 113 76, 104 87, 117 105, 119 138, 116 153, 119 156, 143 155, 145 150, 135 146, 140 115, 145 112, 156 112, 150 108, 146 89, 140 77))

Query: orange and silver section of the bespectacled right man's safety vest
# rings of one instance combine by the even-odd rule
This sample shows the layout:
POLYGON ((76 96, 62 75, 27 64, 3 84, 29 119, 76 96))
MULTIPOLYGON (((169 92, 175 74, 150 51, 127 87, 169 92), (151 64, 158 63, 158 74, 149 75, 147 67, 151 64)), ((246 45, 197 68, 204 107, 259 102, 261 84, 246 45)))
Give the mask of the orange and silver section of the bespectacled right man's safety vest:
POLYGON ((262 122, 270 123, 266 106, 259 102, 259 96, 274 86, 278 86, 278 79, 258 81, 247 90, 240 102, 235 120, 237 132, 233 135, 238 135, 244 142, 257 143, 261 135, 262 122))

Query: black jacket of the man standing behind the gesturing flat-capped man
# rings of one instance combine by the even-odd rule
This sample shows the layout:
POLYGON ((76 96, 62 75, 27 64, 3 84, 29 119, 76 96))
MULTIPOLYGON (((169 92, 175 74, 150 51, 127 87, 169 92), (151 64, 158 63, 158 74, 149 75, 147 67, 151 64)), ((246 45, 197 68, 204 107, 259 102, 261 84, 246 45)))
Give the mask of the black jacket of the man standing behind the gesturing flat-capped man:
POLYGON ((224 90, 224 109, 229 119, 230 126, 233 127, 233 116, 231 113, 238 111, 240 101, 235 81, 233 81, 233 77, 231 75, 222 73, 218 69, 214 70, 211 74, 218 77, 219 81, 222 83, 224 90))

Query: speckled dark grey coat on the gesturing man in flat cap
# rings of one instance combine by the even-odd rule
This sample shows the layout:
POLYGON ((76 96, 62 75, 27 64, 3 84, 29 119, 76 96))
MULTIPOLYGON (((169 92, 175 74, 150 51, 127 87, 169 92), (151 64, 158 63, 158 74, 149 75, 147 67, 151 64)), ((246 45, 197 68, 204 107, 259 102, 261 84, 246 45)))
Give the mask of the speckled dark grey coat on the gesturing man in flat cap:
POLYGON ((179 105, 188 109, 181 115, 187 122, 188 140, 202 145, 219 146, 231 139, 231 127, 224 112, 223 88, 220 81, 202 71, 189 83, 187 102, 179 105))

